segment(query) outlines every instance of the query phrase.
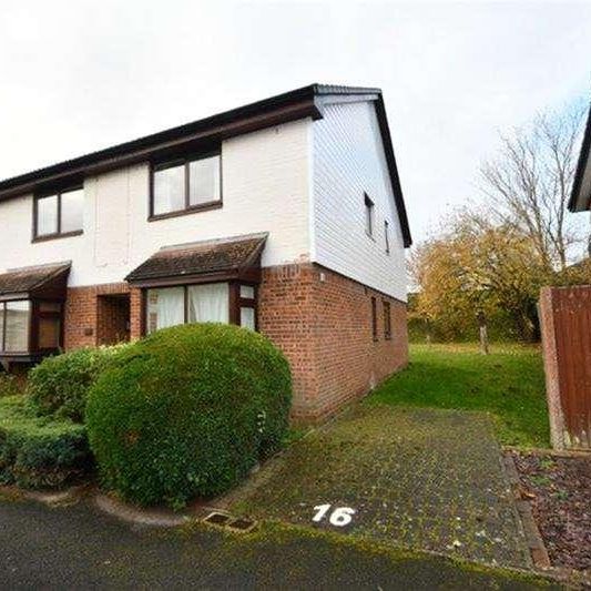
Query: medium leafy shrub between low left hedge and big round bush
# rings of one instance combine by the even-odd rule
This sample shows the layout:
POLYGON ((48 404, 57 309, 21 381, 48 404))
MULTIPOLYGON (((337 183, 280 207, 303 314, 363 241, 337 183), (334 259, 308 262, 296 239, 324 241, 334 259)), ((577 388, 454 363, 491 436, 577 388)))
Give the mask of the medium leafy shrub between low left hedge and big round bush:
POLYGON ((29 373, 27 395, 39 416, 83 422, 89 388, 122 345, 47 357, 29 373))

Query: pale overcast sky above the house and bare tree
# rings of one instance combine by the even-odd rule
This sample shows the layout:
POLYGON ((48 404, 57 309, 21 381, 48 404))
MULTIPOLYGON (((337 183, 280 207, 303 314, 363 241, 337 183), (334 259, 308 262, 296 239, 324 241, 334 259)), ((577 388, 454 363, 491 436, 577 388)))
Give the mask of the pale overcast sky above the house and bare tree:
POLYGON ((0 177, 312 82, 380 86, 415 242, 591 96, 591 1, 2 2, 0 177))

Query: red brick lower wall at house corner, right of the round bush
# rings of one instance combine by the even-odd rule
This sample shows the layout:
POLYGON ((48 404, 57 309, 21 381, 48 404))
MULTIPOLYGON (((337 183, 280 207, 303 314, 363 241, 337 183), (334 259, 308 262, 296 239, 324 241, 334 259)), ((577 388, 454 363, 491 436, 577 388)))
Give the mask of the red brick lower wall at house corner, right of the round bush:
POLYGON ((296 420, 326 418, 408 363, 406 304, 318 265, 263 269, 258 309, 261 332, 289 359, 296 420), (384 300, 390 303, 390 339, 384 300))

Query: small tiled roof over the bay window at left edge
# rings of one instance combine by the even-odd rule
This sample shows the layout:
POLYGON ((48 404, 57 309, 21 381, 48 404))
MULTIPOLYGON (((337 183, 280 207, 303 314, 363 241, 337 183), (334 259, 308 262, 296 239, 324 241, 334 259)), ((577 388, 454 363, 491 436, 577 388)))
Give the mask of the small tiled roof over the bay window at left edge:
POLYGON ((0 299, 65 296, 71 263, 10 269, 0 275, 0 299))

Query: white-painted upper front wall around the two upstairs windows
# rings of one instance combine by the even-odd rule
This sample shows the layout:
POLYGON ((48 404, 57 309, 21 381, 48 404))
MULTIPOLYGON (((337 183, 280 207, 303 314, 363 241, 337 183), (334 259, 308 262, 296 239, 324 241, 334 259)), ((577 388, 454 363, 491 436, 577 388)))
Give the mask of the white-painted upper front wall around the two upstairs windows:
POLYGON ((84 232, 31 242, 32 195, 0 202, 0 272, 72 261, 69 284, 122 282, 160 247, 268 232, 263 265, 309 259, 312 120, 232 137, 222 145, 223 206, 154 222, 149 166, 84 182, 84 232))

